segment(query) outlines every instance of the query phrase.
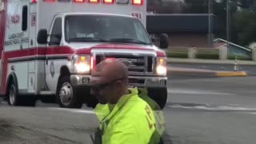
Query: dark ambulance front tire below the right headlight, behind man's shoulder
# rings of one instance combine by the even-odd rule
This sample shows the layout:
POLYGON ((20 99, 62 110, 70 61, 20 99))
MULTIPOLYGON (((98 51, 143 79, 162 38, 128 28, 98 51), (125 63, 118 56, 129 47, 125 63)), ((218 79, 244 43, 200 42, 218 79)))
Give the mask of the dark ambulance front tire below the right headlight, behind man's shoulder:
POLYGON ((164 109, 167 102, 167 89, 166 88, 148 88, 148 94, 154 102, 158 103, 161 109, 164 109))

